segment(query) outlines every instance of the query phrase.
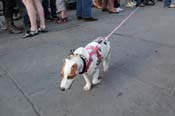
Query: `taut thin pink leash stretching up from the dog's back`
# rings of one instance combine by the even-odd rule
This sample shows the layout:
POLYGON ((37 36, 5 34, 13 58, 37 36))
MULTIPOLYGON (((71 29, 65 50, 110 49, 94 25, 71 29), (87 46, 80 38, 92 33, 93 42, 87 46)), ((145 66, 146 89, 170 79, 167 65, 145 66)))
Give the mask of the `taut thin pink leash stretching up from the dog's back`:
POLYGON ((116 26, 111 33, 109 33, 108 36, 104 38, 104 41, 107 40, 114 32, 116 32, 137 10, 139 7, 137 7, 134 11, 132 11, 118 26, 116 26))

